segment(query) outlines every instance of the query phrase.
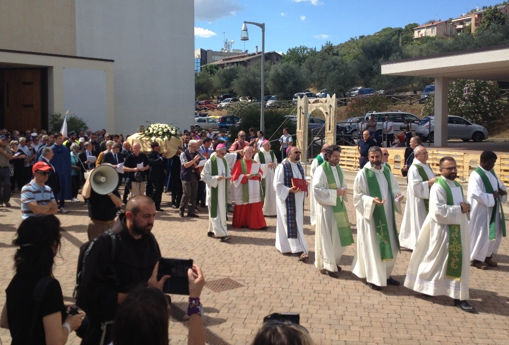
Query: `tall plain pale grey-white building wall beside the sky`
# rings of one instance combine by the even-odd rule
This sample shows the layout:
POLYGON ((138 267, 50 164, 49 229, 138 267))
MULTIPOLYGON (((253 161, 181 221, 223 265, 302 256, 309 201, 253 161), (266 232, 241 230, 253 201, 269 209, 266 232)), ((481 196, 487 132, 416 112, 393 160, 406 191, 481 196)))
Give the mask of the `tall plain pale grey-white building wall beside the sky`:
MULTIPOLYGON (((194 120, 194 4, 190 0, 75 1, 76 54, 115 60, 115 128, 194 120)), ((95 129, 94 126, 91 126, 95 129)))

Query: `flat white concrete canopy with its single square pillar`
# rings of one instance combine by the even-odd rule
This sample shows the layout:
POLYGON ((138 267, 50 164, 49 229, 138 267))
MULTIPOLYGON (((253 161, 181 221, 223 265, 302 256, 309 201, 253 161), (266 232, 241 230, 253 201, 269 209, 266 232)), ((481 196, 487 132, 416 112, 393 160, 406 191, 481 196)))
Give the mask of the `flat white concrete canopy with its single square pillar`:
POLYGON ((382 62, 382 74, 435 78, 435 146, 447 146, 451 79, 509 81, 509 46, 382 62))

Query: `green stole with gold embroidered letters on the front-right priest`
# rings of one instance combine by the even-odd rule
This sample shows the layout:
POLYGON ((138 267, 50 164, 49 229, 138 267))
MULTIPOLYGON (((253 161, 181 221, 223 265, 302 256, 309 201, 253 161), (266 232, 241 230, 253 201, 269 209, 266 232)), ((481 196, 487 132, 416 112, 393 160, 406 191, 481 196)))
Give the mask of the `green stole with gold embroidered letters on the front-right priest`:
MULTIPOLYGON (((440 176, 435 183, 445 191, 445 197, 447 199, 447 205, 454 205, 453 193, 450 191, 450 187, 445 179, 440 176)), ((460 187, 461 194, 463 195, 463 189, 461 185, 454 181, 454 185, 460 187)), ((454 280, 461 280, 461 267, 463 264, 463 254, 461 247, 461 226, 459 224, 449 224, 449 255, 447 256, 447 271, 445 276, 454 280)), ((470 250, 470 248, 468 248, 470 250)))

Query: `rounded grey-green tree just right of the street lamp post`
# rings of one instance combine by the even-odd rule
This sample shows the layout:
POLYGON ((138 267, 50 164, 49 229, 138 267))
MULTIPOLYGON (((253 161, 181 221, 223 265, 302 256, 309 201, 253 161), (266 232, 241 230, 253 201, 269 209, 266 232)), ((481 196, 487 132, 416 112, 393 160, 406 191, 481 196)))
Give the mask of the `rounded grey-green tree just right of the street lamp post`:
POLYGON ((296 64, 286 63, 274 65, 267 78, 267 85, 278 100, 291 100, 295 92, 307 86, 302 68, 296 64))

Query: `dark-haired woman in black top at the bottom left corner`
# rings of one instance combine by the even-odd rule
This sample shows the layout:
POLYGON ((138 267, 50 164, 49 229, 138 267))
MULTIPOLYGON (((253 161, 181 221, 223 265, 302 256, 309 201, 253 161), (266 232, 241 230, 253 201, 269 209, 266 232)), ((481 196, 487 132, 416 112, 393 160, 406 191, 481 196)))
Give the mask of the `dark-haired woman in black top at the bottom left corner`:
POLYGON ((53 278, 54 257, 59 252, 60 221, 54 215, 25 219, 12 243, 16 274, 6 289, 7 301, 0 326, 9 328, 12 344, 65 344, 81 325, 83 313, 67 315, 59 281, 53 278), (34 301, 37 289, 42 298, 34 301))

